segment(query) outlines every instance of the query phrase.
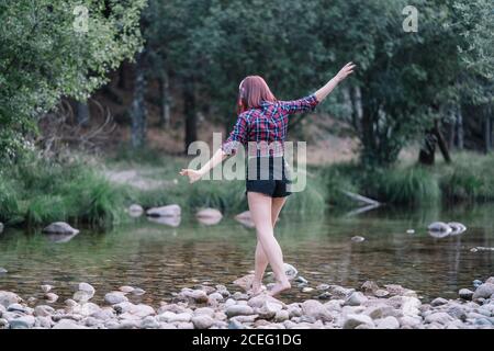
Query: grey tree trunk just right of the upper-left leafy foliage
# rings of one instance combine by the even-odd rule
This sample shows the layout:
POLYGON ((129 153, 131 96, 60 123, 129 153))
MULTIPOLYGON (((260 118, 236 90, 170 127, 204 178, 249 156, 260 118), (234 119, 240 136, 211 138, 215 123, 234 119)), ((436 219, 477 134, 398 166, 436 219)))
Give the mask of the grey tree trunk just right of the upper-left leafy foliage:
POLYGON ((144 147, 146 144, 146 78, 144 73, 144 52, 137 54, 135 65, 134 100, 132 101, 132 146, 144 147))

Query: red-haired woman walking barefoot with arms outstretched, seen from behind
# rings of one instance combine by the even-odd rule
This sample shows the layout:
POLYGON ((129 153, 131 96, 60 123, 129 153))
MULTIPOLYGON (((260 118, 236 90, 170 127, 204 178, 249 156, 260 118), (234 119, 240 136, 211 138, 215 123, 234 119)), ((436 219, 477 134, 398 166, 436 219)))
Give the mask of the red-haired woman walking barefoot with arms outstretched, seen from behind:
POLYGON ((249 156, 255 156, 249 159, 248 169, 256 168, 255 172, 248 172, 246 182, 247 201, 257 231, 255 274, 250 291, 255 295, 263 288, 262 276, 268 263, 277 280, 269 294, 273 296, 291 287, 283 270, 283 254, 273 234, 278 215, 287 196, 290 195, 290 180, 287 177, 283 159, 288 116, 315 109, 339 82, 353 72, 355 67, 352 63, 347 64, 315 93, 294 101, 278 101, 259 76, 245 78, 239 84, 240 113, 228 139, 200 170, 182 169, 180 171, 181 176, 189 177, 191 183, 195 182, 248 143, 249 156), (258 147, 252 148, 252 144, 258 147), (268 145, 267 148, 266 145, 268 145), (279 165, 278 159, 282 160, 281 172, 276 167, 279 165), (268 162, 263 163, 266 160, 268 162), (267 177, 260 177, 262 172, 267 177), (251 177, 251 173, 255 177, 251 177))

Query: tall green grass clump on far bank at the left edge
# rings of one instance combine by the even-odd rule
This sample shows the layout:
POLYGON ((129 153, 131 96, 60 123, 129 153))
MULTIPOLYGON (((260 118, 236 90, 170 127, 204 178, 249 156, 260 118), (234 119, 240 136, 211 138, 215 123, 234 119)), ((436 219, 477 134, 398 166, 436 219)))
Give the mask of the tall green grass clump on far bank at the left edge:
POLYGON ((102 226, 123 218, 125 191, 83 162, 30 156, 0 174, 0 219, 11 225, 71 220, 102 226))

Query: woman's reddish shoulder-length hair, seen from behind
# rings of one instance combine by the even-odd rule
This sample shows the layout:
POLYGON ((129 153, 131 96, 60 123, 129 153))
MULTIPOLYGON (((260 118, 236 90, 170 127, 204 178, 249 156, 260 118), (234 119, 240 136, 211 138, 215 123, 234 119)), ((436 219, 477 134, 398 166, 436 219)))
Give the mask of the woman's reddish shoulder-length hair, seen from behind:
POLYGON ((246 77, 238 87, 239 113, 259 107, 262 101, 276 102, 273 93, 260 76, 246 77))

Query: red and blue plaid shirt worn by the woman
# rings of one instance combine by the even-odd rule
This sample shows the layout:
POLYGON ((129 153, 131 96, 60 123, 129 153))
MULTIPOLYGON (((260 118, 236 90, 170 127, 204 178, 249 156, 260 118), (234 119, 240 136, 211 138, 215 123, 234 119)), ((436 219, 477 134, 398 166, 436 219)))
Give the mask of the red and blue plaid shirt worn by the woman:
POLYGON ((314 94, 293 101, 262 101, 257 109, 238 115, 229 137, 222 144, 226 155, 235 155, 240 146, 251 156, 282 156, 287 138, 288 116, 314 111, 318 101, 314 94))

